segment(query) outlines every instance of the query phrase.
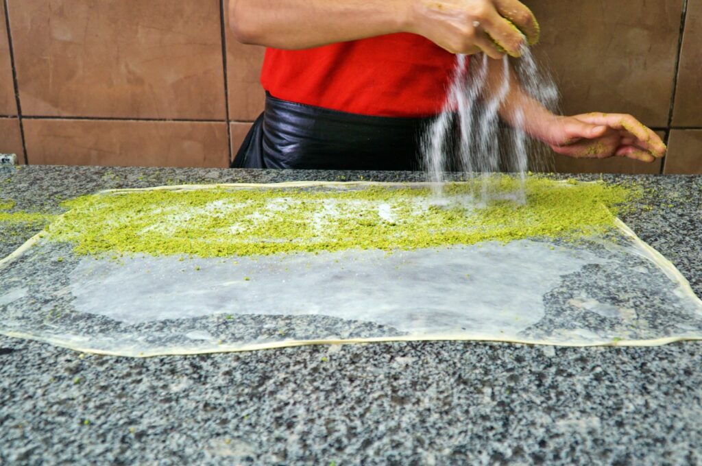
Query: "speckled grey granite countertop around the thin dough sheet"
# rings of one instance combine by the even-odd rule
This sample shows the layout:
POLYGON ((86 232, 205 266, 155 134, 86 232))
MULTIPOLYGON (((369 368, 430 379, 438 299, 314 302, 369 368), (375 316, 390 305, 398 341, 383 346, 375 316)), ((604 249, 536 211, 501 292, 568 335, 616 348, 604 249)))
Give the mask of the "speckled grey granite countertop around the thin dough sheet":
MULTIPOLYGON (((0 173, 0 201, 60 213, 60 201, 107 188, 422 178, 27 166, 0 173)), ((604 179, 645 187, 623 220, 702 295, 702 177, 604 179)), ((0 254, 35 232, 0 222, 0 254)), ((697 464, 700 367, 697 342, 407 342, 130 359, 0 336, 0 464, 697 464)))

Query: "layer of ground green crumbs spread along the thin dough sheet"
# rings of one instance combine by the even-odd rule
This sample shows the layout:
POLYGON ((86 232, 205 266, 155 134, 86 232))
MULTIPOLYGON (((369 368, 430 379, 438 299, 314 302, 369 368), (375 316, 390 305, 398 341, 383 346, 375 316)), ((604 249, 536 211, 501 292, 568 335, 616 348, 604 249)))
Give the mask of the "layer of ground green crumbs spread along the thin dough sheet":
MULTIPOLYGON (((518 189, 491 178, 494 199, 518 189)), ((260 187, 108 192, 79 197, 46 230, 79 254, 269 255, 349 248, 430 248, 534 237, 577 240, 614 227, 633 187, 530 177, 527 204, 472 197, 481 186, 456 183, 445 206, 426 187, 260 187)))

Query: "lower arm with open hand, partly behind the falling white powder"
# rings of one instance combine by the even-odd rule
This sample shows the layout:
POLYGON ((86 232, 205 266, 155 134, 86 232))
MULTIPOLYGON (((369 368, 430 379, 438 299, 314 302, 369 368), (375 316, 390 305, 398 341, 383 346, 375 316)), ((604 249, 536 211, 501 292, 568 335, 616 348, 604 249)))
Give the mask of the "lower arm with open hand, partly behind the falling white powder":
MULTIPOLYGON (((489 60, 486 88, 495 95, 503 83, 501 61, 489 60)), ((548 144, 557 154, 603 159, 628 157, 652 162, 666 152, 661 138, 628 114, 592 112, 574 116, 552 114, 531 97, 510 68, 509 91, 499 109, 501 119, 548 144)))

